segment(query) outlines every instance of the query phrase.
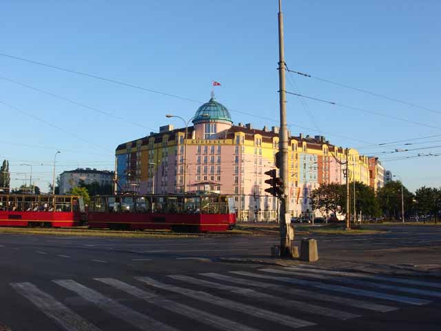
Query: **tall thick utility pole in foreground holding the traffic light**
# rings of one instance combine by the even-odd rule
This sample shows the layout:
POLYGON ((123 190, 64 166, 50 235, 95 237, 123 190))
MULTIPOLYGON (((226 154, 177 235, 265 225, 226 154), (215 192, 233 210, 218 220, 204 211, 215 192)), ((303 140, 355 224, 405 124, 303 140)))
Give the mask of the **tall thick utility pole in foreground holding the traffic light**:
POLYGON ((278 151, 280 155, 280 179, 283 183, 283 194, 280 197, 280 256, 291 257, 291 240, 289 239, 289 174, 288 174, 288 130, 285 88, 285 46, 283 45, 282 0, 278 0, 278 78, 280 132, 278 151))

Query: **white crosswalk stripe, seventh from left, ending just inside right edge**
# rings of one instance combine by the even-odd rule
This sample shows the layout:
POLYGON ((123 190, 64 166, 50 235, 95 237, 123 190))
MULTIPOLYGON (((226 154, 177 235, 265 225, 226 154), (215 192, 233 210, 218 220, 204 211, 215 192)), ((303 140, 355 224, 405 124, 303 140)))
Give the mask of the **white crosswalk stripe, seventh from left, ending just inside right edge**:
POLYGON ((402 302, 402 303, 409 303, 411 305, 427 305, 427 303, 432 302, 430 300, 416 299, 416 298, 411 298, 411 297, 403 297, 401 295, 387 294, 387 293, 375 292, 375 291, 369 291, 369 290, 360 290, 358 288, 348 288, 346 286, 341 286, 341 285, 320 283, 319 281, 306 281, 304 279, 269 276, 269 275, 265 275, 265 274, 257 274, 255 272, 246 272, 246 271, 230 271, 230 272, 232 272, 233 274, 240 274, 242 276, 270 279, 273 281, 283 281, 285 283, 291 283, 291 284, 296 284, 296 285, 308 285, 308 286, 312 286, 314 288, 320 288, 321 290, 343 292, 343 293, 360 295, 363 297, 371 297, 371 298, 385 299, 385 300, 402 302))

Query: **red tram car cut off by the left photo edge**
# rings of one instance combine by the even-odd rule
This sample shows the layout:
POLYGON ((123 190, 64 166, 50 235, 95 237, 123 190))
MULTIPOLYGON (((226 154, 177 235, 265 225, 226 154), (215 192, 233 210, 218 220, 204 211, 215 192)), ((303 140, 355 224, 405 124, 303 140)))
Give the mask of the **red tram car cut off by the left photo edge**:
POLYGON ((83 212, 83 198, 72 195, 0 194, 0 226, 76 226, 83 212))

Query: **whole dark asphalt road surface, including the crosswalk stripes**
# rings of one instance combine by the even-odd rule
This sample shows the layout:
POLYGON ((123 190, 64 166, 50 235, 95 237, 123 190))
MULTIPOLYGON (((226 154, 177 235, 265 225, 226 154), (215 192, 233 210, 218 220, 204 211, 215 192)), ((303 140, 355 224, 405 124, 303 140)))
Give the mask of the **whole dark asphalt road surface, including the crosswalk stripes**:
POLYGON ((275 237, 0 234, 0 330, 438 331, 440 279, 331 270, 333 259, 433 261, 424 249, 441 228, 391 229, 313 236, 324 264, 294 268, 219 261, 267 257, 275 237))

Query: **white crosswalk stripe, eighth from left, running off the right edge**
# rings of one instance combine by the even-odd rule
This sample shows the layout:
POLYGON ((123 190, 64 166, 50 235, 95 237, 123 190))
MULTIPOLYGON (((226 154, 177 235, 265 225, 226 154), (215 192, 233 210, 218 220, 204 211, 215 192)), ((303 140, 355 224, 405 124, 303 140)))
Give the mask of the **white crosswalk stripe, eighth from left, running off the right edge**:
POLYGON ((348 285, 366 286, 368 288, 382 288, 384 290, 393 290, 393 291, 407 292, 407 293, 412 293, 412 294, 427 295, 429 297, 441 298, 441 292, 430 291, 430 290, 419 290, 417 288, 404 288, 402 286, 386 285, 386 284, 382 284, 382 283, 378 283, 378 282, 373 283, 371 281, 358 281, 356 279, 332 277, 332 276, 326 276, 323 274, 312 274, 312 273, 303 272, 303 271, 296 272, 296 271, 285 271, 285 270, 277 270, 277 269, 260 269, 260 271, 272 272, 275 274, 291 274, 294 276, 309 277, 309 278, 314 278, 314 279, 325 279, 325 280, 336 281, 338 283, 344 283, 344 284, 348 284, 348 285))

